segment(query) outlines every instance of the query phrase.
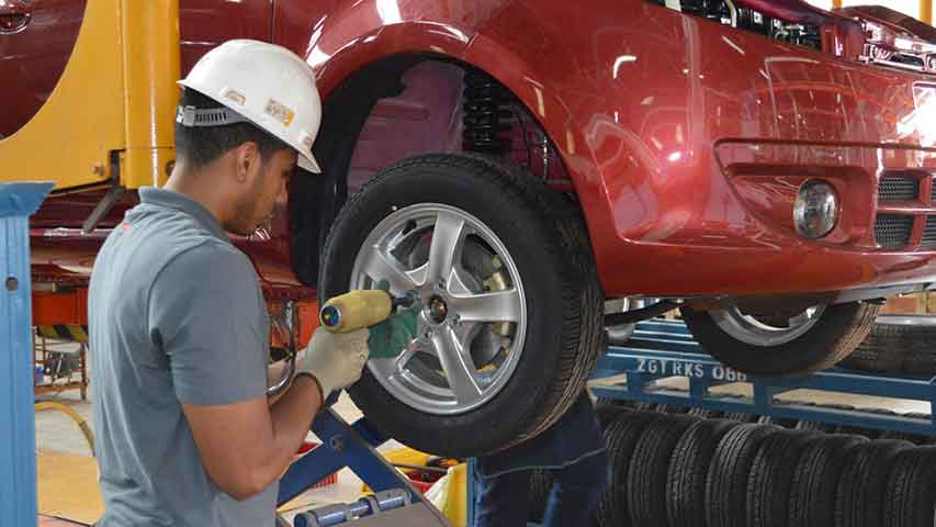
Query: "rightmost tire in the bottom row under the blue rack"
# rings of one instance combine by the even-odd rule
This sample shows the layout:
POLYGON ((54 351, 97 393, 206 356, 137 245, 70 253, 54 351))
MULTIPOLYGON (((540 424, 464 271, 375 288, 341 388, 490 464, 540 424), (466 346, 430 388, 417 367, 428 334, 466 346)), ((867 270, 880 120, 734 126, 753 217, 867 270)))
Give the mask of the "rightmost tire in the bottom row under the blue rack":
POLYGON ((884 496, 888 527, 932 527, 936 505, 936 447, 896 455, 884 496))

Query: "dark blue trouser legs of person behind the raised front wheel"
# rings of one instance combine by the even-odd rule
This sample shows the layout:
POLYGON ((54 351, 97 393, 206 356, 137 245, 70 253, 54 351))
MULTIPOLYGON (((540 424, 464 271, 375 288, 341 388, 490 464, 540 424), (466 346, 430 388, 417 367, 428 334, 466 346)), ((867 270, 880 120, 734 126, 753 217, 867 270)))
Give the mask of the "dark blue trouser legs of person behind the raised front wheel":
POLYGON ((553 481, 543 527, 591 525, 610 471, 601 427, 586 391, 539 436, 475 460, 473 527, 527 525, 534 469, 549 471, 553 481))

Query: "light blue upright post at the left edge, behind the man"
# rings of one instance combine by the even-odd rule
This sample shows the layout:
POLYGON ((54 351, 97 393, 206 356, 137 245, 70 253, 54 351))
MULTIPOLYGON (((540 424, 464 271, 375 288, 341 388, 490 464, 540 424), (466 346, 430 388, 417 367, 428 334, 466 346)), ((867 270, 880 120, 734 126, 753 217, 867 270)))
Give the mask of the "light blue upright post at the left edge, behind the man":
POLYGON ((52 183, 0 183, 0 525, 36 525, 29 216, 52 183))

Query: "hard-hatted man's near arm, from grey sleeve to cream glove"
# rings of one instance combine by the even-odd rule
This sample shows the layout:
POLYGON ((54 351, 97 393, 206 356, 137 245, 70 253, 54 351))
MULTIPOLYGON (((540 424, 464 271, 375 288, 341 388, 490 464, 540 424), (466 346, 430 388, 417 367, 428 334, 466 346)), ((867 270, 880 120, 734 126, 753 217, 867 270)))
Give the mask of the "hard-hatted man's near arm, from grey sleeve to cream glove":
POLYGON ((319 328, 296 358, 293 385, 270 406, 264 309, 250 261, 218 244, 177 256, 149 299, 149 333, 169 359, 205 472, 236 498, 283 472, 323 399, 357 381, 368 358, 366 329, 319 328))

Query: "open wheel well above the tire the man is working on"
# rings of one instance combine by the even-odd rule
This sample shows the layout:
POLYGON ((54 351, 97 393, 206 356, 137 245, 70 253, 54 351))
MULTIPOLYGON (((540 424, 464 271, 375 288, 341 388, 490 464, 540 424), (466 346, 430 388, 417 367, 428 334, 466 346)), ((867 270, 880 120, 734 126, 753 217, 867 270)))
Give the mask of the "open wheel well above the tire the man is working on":
POLYGON ((398 160, 480 152, 574 192, 554 144, 519 98, 484 71, 435 55, 395 56, 349 76, 324 101, 314 152, 323 173, 294 178, 290 188, 293 267, 309 285, 348 195, 398 160))

